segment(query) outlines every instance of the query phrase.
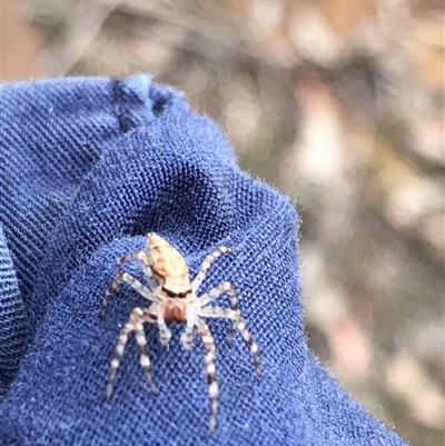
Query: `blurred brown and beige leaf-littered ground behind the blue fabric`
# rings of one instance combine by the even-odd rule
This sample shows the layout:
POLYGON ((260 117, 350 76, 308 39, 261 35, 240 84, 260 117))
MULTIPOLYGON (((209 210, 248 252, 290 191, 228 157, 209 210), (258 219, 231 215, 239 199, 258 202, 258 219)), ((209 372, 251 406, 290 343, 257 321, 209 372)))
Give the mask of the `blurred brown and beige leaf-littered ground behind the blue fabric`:
POLYGON ((444 3, 2 0, 1 80, 150 72, 300 210, 323 364, 444 444, 444 3))

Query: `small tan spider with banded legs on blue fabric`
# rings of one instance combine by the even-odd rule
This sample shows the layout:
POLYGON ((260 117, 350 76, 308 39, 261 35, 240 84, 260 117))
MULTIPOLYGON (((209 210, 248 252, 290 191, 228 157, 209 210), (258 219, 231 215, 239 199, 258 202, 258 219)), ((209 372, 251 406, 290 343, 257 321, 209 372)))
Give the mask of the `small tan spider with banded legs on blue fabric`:
POLYGON ((115 280, 103 295, 101 316, 103 317, 107 311, 111 294, 118 291, 122 283, 130 285, 137 293, 150 300, 151 305, 148 308, 134 308, 127 324, 120 331, 108 375, 106 392, 108 400, 111 398, 117 369, 128 336, 132 331, 135 331, 136 343, 139 347, 140 366, 145 371, 151 390, 158 394, 158 387, 154 381, 150 369, 147 339, 144 333, 145 323, 158 325, 160 341, 167 347, 171 333, 166 323, 186 323, 181 341, 188 350, 192 347, 194 330, 202 339, 206 349, 205 367, 210 397, 210 432, 215 430, 218 408, 218 383, 215 369, 216 348, 214 337, 202 318, 221 317, 233 320, 229 338, 231 338, 234 328, 237 328, 254 355, 258 376, 261 374, 259 350, 241 318, 234 286, 229 281, 224 281, 201 296, 197 296, 196 294, 211 262, 226 252, 231 252, 231 249, 221 246, 208 255, 194 280, 190 280, 188 266, 184 257, 166 239, 156 234, 148 235, 146 250, 136 250, 117 259, 115 280), (147 285, 144 285, 130 274, 121 271, 122 264, 132 259, 140 260, 147 285), (224 293, 227 293, 230 298, 231 309, 208 306, 208 304, 216 300, 224 293))

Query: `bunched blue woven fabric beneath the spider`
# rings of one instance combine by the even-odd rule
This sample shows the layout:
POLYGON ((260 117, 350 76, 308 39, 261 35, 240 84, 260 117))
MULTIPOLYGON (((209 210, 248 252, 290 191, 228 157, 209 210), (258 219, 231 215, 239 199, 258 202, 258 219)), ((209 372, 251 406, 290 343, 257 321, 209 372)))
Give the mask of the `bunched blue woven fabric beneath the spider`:
MULTIPOLYGON (((1 86, 1 445, 403 445, 332 379, 307 346, 291 202, 239 170, 233 149, 176 91, 146 76, 1 86), (129 287, 98 317, 115 260, 156 231, 202 284, 230 280, 264 375, 228 321, 217 343, 218 426, 208 432, 204 348, 170 350, 147 326, 160 395, 131 338, 110 403, 105 388, 129 287), (24 353, 26 349, 26 353, 24 353), (21 361, 19 363, 19 360, 21 361)), ((142 278, 137 261, 128 270, 142 278)), ((227 297, 220 303, 228 304, 227 297)))

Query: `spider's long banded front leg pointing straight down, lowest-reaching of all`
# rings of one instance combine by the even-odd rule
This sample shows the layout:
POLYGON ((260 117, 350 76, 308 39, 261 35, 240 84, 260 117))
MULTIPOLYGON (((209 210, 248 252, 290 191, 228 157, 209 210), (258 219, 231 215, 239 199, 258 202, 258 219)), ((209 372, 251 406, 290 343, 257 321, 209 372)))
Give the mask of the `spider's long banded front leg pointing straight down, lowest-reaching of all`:
POLYGON ((215 430, 216 427, 216 414, 218 410, 218 383, 216 380, 215 370, 215 340, 207 324, 202 319, 198 319, 195 328, 198 335, 201 337, 204 346, 206 348, 205 366, 207 374, 207 383, 209 386, 210 395, 210 432, 215 430))

